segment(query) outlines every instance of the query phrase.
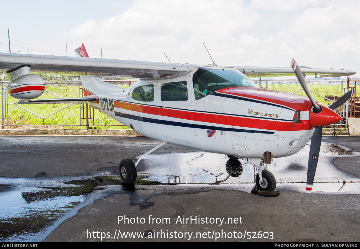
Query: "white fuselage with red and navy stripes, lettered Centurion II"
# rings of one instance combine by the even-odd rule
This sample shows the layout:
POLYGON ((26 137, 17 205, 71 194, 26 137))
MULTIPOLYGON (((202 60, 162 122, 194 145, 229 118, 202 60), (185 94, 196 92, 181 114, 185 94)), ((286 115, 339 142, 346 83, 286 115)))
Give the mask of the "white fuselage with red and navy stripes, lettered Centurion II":
POLYGON ((198 100, 196 94, 189 74, 139 80, 123 93, 96 95, 99 103, 90 104, 152 139, 235 155, 254 164, 260 163, 265 151, 270 151, 272 158, 297 153, 314 131, 312 105, 303 96, 255 86, 223 88, 198 100), (186 100, 164 99, 162 86, 172 82, 187 87, 186 100), (151 101, 136 100, 134 91, 141 86, 153 86, 151 101))

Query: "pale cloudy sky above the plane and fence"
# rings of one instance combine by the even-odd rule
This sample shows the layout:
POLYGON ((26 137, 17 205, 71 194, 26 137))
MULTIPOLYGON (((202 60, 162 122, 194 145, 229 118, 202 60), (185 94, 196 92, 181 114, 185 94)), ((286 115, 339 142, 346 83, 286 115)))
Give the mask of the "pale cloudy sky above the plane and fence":
MULTIPOLYGON (((360 1, 11 1, 0 52, 360 72, 360 1), (89 45, 87 45, 89 37, 89 45), (28 48, 28 49, 27 49, 28 48), (21 51, 21 52, 18 52, 21 51), (99 51, 99 52, 98 52, 99 51)), ((6 10, 6 11, 5 11, 6 10)), ((359 73, 356 74, 356 76, 359 73)), ((359 77, 359 76, 358 76, 359 77)))

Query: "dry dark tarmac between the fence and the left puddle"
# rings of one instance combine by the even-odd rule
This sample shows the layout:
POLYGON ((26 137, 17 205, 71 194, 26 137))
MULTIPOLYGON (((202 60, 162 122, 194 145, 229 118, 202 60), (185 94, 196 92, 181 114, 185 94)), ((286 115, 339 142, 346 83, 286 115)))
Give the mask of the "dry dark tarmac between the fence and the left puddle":
MULTIPOLYGON (((0 136, 0 176, 118 172, 122 159, 144 154, 160 143, 144 136, 0 136)), ((154 153, 190 151, 197 150, 165 145, 154 153)))

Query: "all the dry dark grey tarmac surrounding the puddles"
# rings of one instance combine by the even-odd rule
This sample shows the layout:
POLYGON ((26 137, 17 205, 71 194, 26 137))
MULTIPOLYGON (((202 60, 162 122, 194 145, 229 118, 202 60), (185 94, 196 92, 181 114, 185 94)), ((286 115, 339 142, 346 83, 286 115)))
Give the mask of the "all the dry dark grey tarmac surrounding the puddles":
MULTIPOLYGON (((324 141, 360 151, 359 136, 324 136, 324 141)), ((121 159, 134 159, 159 143, 139 136, 0 136, 0 176, 34 177, 41 172, 47 177, 71 176, 104 170, 118 175, 121 159)), ((155 153, 190 151, 196 150, 166 145, 155 153)), ((360 157, 348 156, 333 163, 360 177, 359 161, 360 157)), ((359 195, 289 190, 280 191, 277 197, 264 197, 250 194, 252 185, 109 186, 96 190, 104 191, 102 197, 54 227, 45 241, 359 240, 359 195), (129 224, 118 222, 119 216, 130 218, 129 224), (194 220, 190 224, 190 216, 200 218, 200 224, 194 220), (144 238, 136 235, 129 239, 127 232, 145 233, 144 238)))

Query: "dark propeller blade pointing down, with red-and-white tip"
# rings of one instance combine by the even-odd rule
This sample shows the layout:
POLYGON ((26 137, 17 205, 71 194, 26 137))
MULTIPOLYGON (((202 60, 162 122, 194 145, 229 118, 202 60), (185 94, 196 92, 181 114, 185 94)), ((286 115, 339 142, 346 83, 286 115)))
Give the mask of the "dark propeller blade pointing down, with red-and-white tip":
POLYGON ((314 134, 312 134, 310 152, 309 152, 309 163, 307 164, 307 177, 306 177, 307 194, 311 194, 312 184, 314 183, 314 177, 316 172, 316 166, 318 166, 322 137, 323 137, 323 127, 316 126, 314 134))

